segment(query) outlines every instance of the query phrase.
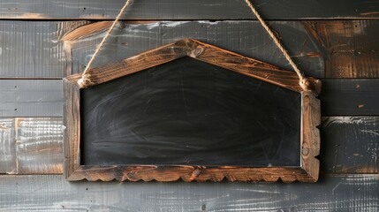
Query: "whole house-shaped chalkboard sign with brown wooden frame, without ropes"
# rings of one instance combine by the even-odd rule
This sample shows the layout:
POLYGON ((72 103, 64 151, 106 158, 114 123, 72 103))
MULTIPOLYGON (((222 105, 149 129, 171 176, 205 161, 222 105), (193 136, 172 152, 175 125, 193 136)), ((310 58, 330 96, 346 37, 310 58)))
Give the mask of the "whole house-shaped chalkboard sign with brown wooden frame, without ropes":
POLYGON ((184 40, 91 77, 64 80, 69 180, 317 179, 320 106, 293 72, 184 40))

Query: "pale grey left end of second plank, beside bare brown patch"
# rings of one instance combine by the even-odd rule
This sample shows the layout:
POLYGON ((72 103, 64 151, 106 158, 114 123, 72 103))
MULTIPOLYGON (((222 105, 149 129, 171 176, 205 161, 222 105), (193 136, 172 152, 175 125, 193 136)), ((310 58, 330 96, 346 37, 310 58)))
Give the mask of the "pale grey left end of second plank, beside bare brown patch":
MULTIPOLYGON (((1 5, 2 3, 0 3, 1 5)), ((62 78, 57 22, 0 21, 0 78, 62 78)))

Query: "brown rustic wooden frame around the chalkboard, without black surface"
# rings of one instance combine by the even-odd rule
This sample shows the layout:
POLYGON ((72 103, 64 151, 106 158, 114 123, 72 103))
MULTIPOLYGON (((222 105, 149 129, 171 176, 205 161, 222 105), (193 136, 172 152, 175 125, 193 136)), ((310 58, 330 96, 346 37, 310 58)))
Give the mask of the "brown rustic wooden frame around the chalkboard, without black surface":
POLYGON ((320 152, 320 101, 316 95, 320 93, 321 81, 309 78, 310 91, 299 87, 299 78, 295 72, 284 71, 274 65, 266 64, 249 57, 243 57, 231 51, 192 39, 172 42, 163 47, 152 49, 135 57, 126 58, 111 64, 91 69, 89 86, 117 79, 133 72, 168 63, 180 57, 193 57, 208 64, 223 67, 233 72, 239 72, 256 79, 285 87, 301 94, 301 155, 300 167, 202 167, 202 166, 87 166, 80 164, 80 87, 78 79, 81 74, 64 78, 64 177, 67 180, 89 181, 103 180, 119 181, 277 181, 284 182, 299 180, 315 182, 319 174, 319 160, 315 156, 320 152))

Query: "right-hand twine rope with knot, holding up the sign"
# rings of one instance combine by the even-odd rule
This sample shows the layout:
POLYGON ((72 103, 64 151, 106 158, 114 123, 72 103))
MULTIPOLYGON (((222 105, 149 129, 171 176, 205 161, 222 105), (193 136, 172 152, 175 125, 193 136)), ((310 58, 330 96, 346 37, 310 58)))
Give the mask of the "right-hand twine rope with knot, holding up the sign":
POLYGON ((251 2, 249 0, 245 0, 245 2, 250 7, 251 11, 253 11, 254 15, 259 20, 259 22, 261 23, 262 27, 267 31, 267 33, 269 34, 269 36, 275 42, 275 44, 277 45, 277 48, 279 48, 280 51, 282 51, 284 57, 291 64, 293 70, 298 74, 300 87, 303 88, 303 90, 305 90, 305 91, 309 90, 309 88, 308 88, 309 87, 309 81, 300 72, 298 66, 293 62, 293 60, 290 57, 290 55, 288 54, 287 50, 284 49, 283 44, 277 39, 277 36, 274 34, 274 32, 272 32, 272 30, 269 28, 269 26, 267 26, 266 22, 264 22, 264 20, 262 19, 261 15, 258 13, 258 11, 255 10, 253 4, 251 4, 251 2))

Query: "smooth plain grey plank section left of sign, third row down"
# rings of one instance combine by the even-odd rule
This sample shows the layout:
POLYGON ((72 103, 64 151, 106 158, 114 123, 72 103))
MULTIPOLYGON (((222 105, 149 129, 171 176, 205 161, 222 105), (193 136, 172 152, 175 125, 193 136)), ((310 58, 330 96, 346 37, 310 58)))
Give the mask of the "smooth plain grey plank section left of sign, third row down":
POLYGON ((0 79, 0 117, 61 117, 61 79, 0 79))

